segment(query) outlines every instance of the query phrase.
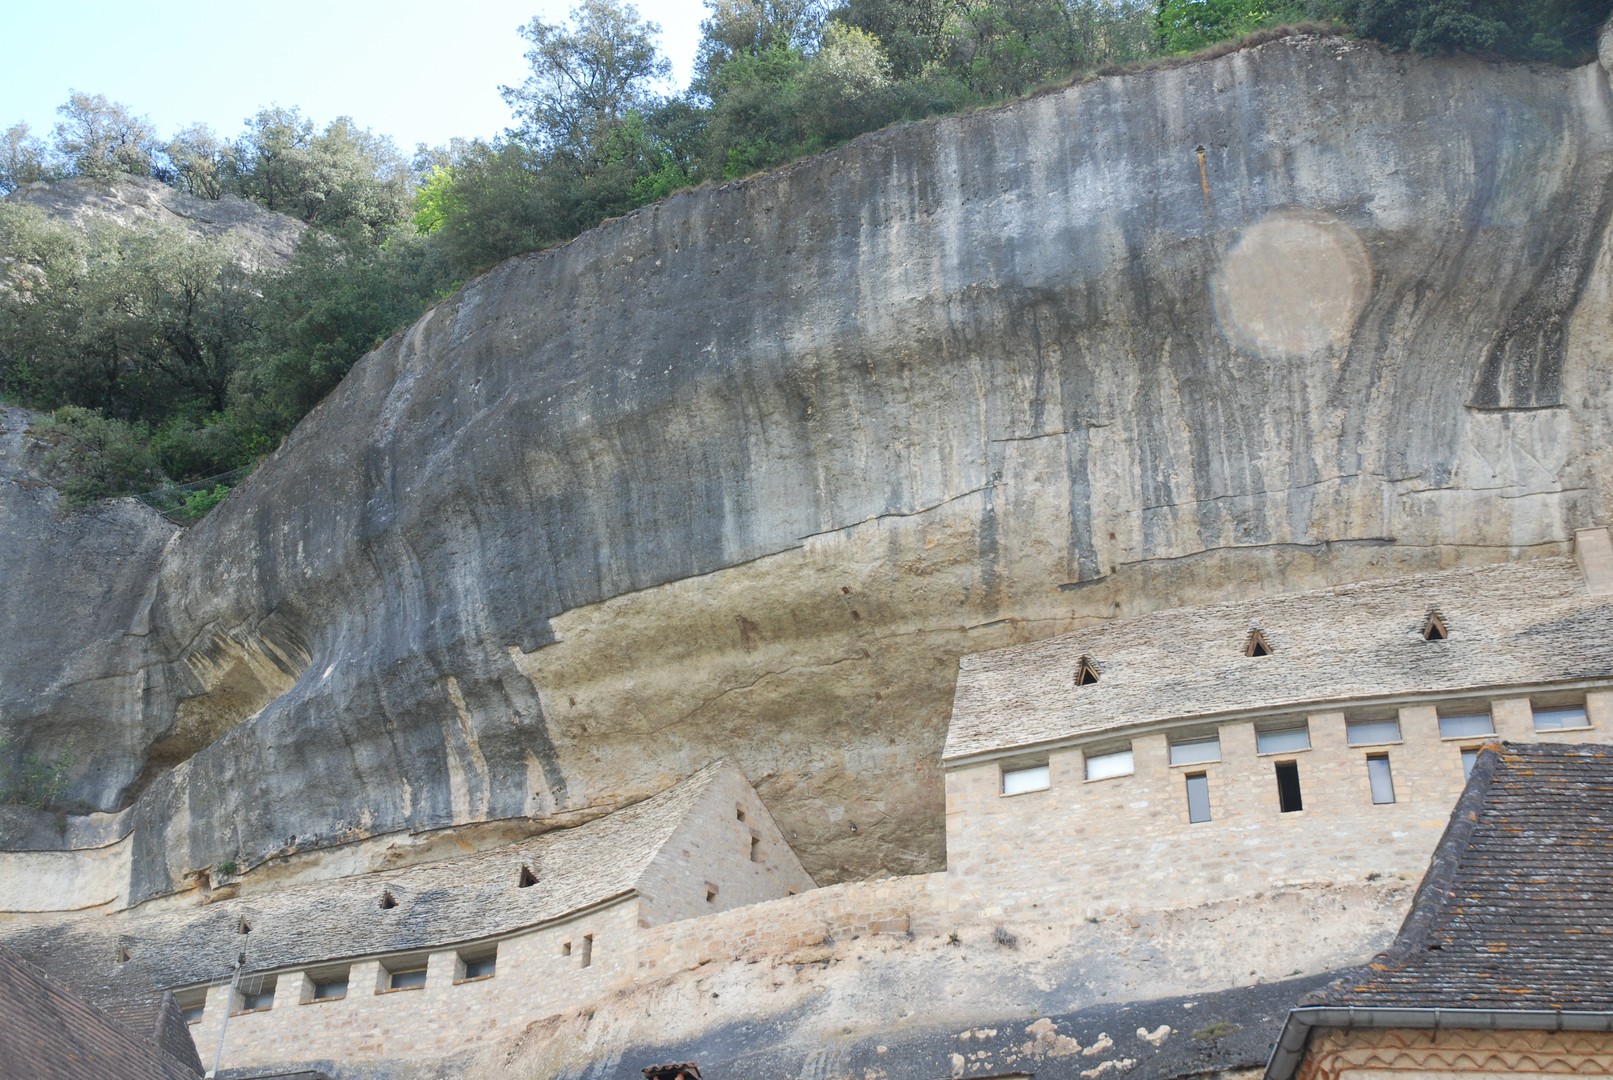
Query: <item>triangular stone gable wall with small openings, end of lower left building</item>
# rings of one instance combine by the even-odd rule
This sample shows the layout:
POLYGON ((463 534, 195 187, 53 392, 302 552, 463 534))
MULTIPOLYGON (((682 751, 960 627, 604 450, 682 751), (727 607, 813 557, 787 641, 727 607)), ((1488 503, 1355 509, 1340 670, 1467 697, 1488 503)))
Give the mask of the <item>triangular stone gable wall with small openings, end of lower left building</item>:
POLYGON ((713 780, 639 879, 648 924, 695 919, 813 888, 768 808, 739 772, 713 780))

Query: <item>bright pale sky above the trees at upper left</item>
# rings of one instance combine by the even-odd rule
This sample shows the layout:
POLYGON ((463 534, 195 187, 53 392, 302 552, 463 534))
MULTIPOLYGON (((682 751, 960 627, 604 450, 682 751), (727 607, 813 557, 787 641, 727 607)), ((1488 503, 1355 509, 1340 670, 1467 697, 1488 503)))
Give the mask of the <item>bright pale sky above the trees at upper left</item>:
MULTIPOLYGON (((500 84, 526 76, 532 16, 574 0, 0 0, 0 129, 48 139, 71 90, 105 93, 161 139, 203 123, 224 137, 266 105, 319 126, 352 116, 411 153, 510 126, 500 84)), ((677 87, 689 84, 702 0, 644 0, 677 87)), ((673 87, 668 87, 673 89, 673 87)))

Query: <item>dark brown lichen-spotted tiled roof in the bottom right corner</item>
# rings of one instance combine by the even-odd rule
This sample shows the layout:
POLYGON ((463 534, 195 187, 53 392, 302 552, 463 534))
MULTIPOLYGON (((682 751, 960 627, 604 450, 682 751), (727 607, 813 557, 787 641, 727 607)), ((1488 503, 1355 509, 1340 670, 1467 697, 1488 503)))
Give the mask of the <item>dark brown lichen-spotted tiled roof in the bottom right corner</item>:
POLYGON ((1613 746, 1481 754, 1395 943, 1302 1004, 1613 1009, 1613 746))

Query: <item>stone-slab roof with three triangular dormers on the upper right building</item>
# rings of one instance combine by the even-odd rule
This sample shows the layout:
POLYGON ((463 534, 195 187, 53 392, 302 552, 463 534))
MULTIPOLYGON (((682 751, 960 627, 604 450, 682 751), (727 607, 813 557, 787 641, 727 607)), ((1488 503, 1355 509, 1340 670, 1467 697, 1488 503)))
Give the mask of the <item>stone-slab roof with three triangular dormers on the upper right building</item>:
POLYGON ((1613 596, 1571 558, 1177 608, 966 656, 945 758, 1144 724, 1319 703, 1605 679, 1613 596), (1437 609, 1448 640, 1424 642, 1437 609), (1260 629, 1271 656, 1245 656, 1260 629), (1082 656, 1098 682, 1074 685, 1082 656))

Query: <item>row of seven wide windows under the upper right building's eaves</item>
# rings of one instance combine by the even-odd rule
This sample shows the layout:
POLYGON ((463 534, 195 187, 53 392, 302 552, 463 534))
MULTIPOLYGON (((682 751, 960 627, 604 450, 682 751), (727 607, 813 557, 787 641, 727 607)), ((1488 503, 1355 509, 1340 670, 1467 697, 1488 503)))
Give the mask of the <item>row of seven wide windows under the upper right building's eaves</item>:
MULTIPOLYGON (((1568 732, 1590 727, 1590 717, 1584 704, 1565 704, 1534 709, 1536 732, 1568 732)), ((1400 741, 1400 721, 1395 717, 1347 721, 1344 725, 1345 741, 1350 746, 1374 746, 1400 741)), ((1450 711, 1439 714, 1440 738, 1479 738, 1495 733, 1495 719, 1489 712, 1450 711)), ((1255 753, 1282 754, 1310 750, 1310 722, 1287 721, 1255 729, 1255 753)), ((1463 750, 1463 764, 1471 772, 1476 748, 1463 750)), ((1198 766, 1221 761, 1219 735, 1194 735, 1173 738, 1169 741, 1169 762, 1173 766, 1198 766)), ((1084 775, 1087 780, 1108 780, 1136 772, 1132 750, 1105 750, 1084 754, 1084 775)), ((1002 793, 1021 795, 1024 791, 1042 791, 1052 783, 1047 764, 1005 767, 1002 771, 1002 793)), ((1390 800, 1392 801, 1392 800, 1390 800)))

